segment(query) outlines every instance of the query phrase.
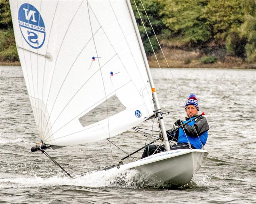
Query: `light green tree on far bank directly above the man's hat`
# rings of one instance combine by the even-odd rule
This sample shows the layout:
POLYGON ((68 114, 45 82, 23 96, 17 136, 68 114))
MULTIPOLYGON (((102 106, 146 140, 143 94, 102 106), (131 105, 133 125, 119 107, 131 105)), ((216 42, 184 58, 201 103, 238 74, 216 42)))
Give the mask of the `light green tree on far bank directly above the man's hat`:
POLYGON ((210 26, 201 18, 203 7, 208 1, 203 0, 172 0, 159 1, 164 8, 161 11, 163 23, 174 34, 182 35, 185 42, 197 45, 211 38, 210 26))

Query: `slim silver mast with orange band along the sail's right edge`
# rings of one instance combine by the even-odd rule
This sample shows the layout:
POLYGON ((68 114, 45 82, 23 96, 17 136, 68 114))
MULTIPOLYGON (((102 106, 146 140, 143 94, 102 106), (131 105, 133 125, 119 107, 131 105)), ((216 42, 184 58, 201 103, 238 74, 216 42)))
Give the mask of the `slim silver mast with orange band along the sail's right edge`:
POLYGON ((156 114, 157 114, 157 117, 158 117, 158 120, 159 120, 159 123, 160 123, 160 128, 161 128, 163 137, 164 137, 164 146, 165 146, 166 151, 170 151, 171 149, 170 149, 170 145, 169 145, 169 142, 168 142, 168 137, 167 137, 167 134, 166 134, 166 129, 165 129, 165 125, 164 125, 164 118, 161 115, 161 108, 160 108, 159 101, 158 101, 158 98, 157 98, 156 88, 155 88, 154 81, 153 81, 152 76, 151 76, 151 72, 150 72, 149 65, 148 65, 148 59, 147 59, 145 49, 144 49, 144 46, 143 46, 143 43, 142 43, 142 40, 141 40, 141 37, 140 37, 139 28, 137 26, 137 22, 136 22, 136 19, 135 19, 133 10, 132 10, 132 5, 131 5, 130 0, 126 0, 126 4, 127 4, 127 7, 128 7, 130 16, 132 18, 133 27, 135 29, 135 33, 136 33, 136 36, 137 36, 137 39, 138 39, 138 42, 139 42, 139 45, 140 45, 140 51, 141 51, 143 61, 144 61, 145 67, 146 67, 146 71, 147 71, 147 74, 148 74, 148 79, 149 79, 150 87, 151 87, 151 90, 152 90, 152 95, 153 95, 155 105, 156 105, 156 114))

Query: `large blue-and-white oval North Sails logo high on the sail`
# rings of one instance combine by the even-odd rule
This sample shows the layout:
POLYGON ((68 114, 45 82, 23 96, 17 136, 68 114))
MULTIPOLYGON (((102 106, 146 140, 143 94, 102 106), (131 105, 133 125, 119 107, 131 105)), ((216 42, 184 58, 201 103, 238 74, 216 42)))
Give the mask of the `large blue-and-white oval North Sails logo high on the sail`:
POLYGON ((45 40, 44 21, 31 4, 22 4, 18 11, 20 32, 30 47, 41 48, 45 40))

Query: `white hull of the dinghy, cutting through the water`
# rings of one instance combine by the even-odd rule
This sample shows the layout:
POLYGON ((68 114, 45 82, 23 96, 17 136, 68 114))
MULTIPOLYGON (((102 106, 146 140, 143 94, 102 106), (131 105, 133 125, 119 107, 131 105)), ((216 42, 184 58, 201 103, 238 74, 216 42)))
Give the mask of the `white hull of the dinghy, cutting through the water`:
POLYGON ((201 149, 178 149, 161 152, 135 162, 120 165, 106 171, 136 169, 147 178, 161 184, 187 184, 201 167, 204 155, 208 151, 201 149))

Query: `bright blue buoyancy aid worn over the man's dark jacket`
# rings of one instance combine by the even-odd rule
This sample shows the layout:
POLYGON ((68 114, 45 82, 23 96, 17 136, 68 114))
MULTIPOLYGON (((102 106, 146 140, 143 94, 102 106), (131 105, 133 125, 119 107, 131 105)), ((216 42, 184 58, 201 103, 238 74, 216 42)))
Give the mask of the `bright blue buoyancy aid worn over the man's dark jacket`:
MULTIPOLYGON (((192 117, 191 119, 193 119, 193 118, 194 117, 192 117)), ((186 120, 183 121, 183 123, 185 123, 185 122, 188 122, 188 121, 186 121, 186 120)), ((195 120, 190 121, 188 123, 188 125, 190 125, 190 126, 193 126, 194 124, 195 124, 195 120)), ((195 147, 196 149, 201 149, 203 147, 202 144, 205 145, 207 138, 208 138, 208 132, 207 131, 204 132, 203 134, 199 135, 199 138, 198 138, 198 136, 190 136, 188 134, 187 134, 187 137, 186 137, 186 135, 183 131, 183 128, 180 128, 179 129, 179 139, 178 139, 177 144, 180 144, 180 143, 188 144, 188 141, 189 141, 190 144, 193 147, 195 147)))

